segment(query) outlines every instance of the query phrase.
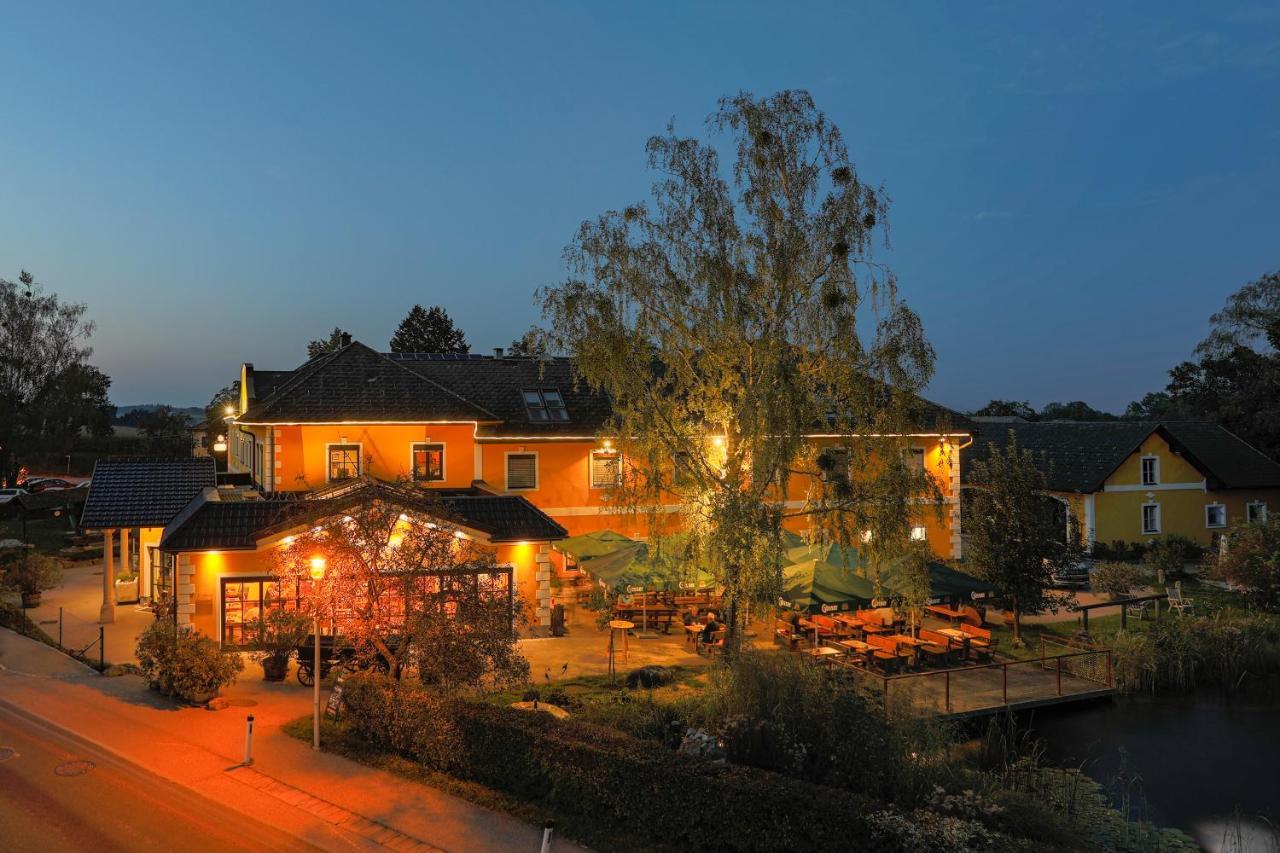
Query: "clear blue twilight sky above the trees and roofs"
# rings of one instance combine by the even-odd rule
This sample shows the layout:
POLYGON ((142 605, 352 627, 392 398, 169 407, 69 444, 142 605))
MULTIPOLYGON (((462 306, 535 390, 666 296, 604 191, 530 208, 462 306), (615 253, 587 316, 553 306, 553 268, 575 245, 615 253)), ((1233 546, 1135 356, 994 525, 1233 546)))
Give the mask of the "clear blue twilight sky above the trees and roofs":
POLYGON ((1123 409, 1280 268, 1275 1, 51 6, 0 0, 0 277, 88 304, 122 405, 413 302, 508 343, 737 90, 884 183, 946 405, 1123 409))

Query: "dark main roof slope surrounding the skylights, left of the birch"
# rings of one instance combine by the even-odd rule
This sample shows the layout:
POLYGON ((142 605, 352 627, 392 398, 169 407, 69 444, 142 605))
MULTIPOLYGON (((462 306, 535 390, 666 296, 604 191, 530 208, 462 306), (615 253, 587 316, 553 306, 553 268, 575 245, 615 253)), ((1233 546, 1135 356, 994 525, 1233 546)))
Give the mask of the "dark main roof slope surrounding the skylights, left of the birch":
POLYGON ((608 400, 581 380, 575 382, 573 365, 568 359, 434 359, 429 357, 431 353, 420 352, 385 355, 498 415, 502 423, 481 428, 481 435, 594 435, 609 419, 608 400), (530 420, 521 394, 526 388, 559 391, 568 420, 530 420))

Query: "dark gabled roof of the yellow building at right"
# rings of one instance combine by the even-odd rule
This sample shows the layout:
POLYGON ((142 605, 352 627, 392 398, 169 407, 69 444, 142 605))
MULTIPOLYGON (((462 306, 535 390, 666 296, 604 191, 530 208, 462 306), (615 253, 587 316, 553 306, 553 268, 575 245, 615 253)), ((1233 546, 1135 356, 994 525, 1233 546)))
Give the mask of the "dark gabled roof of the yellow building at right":
POLYGON ((1280 464, 1217 424, 1187 420, 982 424, 973 448, 961 455, 963 479, 968 482, 969 466, 984 460, 991 444, 1004 448, 1012 434, 1019 447, 1048 460, 1051 489, 1098 492, 1152 433, 1194 465, 1210 488, 1280 487, 1280 464))

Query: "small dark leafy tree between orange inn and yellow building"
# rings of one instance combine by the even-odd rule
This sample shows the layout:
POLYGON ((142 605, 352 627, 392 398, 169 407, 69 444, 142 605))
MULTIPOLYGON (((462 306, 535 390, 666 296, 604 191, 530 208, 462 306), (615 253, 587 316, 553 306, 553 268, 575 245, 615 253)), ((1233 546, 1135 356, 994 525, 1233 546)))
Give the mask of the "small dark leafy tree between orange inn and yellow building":
POLYGON ((1061 598, 1051 592, 1052 576, 1080 557, 1075 537, 1066 537, 1064 506, 1047 494, 1047 466, 1014 434, 1004 448, 992 444, 987 459, 973 464, 964 519, 965 558, 1014 612, 1019 646, 1023 613, 1055 610, 1061 598))

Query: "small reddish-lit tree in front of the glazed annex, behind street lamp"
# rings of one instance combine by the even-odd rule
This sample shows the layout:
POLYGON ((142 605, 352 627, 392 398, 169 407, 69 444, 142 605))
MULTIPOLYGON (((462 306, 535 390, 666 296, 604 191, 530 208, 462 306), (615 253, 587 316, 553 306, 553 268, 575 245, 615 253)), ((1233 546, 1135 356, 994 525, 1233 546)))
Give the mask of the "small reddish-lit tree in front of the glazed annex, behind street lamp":
POLYGON ((516 643, 520 605, 493 551, 460 538, 443 506, 420 491, 406 498, 398 487, 361 488, 347 515, 315 519, 282 548, 274 573, 310 588, 306 607, 397 676, 413 661, 445 690, 527 681, 516 643), (317 555, 328 565, 315 585, 317 555))

